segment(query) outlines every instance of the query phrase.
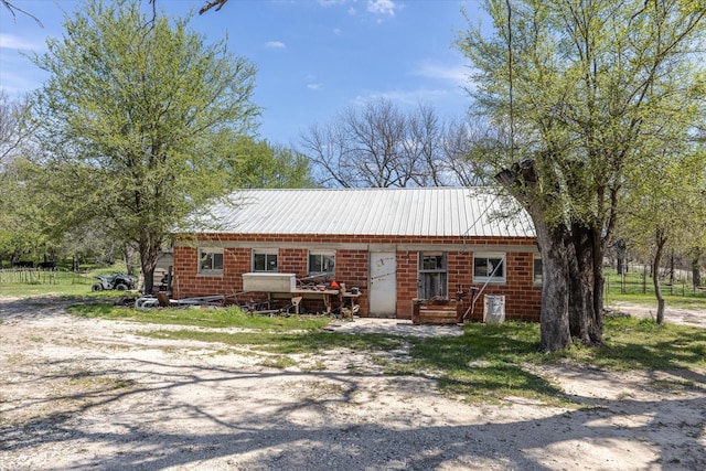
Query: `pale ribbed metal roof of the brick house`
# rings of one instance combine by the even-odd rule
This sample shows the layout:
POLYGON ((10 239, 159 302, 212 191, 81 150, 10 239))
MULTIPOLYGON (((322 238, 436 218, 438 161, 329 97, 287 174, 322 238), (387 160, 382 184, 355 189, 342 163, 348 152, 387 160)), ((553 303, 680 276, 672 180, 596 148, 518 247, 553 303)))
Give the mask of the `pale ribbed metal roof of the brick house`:
POLYGON ((211 208, 207 233, 534 237, 494 188, 243 190, 211 208))

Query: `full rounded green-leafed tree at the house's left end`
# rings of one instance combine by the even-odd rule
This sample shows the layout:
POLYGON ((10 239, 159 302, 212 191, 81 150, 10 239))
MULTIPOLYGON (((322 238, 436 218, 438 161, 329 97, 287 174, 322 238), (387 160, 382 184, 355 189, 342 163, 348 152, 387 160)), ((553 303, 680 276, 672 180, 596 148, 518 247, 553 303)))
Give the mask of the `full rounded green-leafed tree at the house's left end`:
POLYGON ((186 20, 149 18, 138 0, 77 11, 34 56, 50 73, 33 109, 41 184, 65 227, 99 220, 138 247, 151 292, 169 232, 232 190, 224 159, 233 137, 255 128, 256 71, 186 20))

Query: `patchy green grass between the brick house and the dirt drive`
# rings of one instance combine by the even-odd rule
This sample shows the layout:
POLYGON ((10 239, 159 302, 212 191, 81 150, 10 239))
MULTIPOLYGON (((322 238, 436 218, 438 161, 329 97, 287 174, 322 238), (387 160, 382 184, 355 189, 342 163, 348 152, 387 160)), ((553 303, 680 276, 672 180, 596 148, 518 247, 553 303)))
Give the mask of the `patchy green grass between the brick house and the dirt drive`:
MULTIPOLYGON (((325 360, 331 352, 368 353, 370 365, 377 367, 381 374, 432 377, 445 394, 468 402, 500 404, 512 397, 524 397, 538 404, 570 405, 569 397, 550 381, 532 373, 530 370, 534 368, 527 365, 574 363, 611 371, 692 371, 697 374, 706 368, 706 330, 657 325, 652 320, 634 318, 607 318, 602 346, 577 344, 568 351, 544 354, 538 351, 537 323, 473 323, 466 325, 462 336, 422 339, 324 332, 321 328, 329 318, 253 317, 237 309, 138 311, 98 303, 75 306, 71 311, 89 318, 184 325, 184 329, 151 330, 141 334, 218 342, 226 345, 225 349, 266 352, 271 356, 260 364, 277 368, 302 362, 293 360, 292 355, 307 355, 308 365, 313 363, 313 368, 322 370, 324 363, 318 358, 325 360), (211 329, 189 328, 194 325, 211 329), (232 328, 248 331, 234 332, 232 328)), ((302 366, 307 368, 303 363, 302 366)), ((361 372, 359 366, 350 368, 351 374, 361 372)), ((660 381, 655 386, 676 392, 703 387, 693 381, 660 381)))

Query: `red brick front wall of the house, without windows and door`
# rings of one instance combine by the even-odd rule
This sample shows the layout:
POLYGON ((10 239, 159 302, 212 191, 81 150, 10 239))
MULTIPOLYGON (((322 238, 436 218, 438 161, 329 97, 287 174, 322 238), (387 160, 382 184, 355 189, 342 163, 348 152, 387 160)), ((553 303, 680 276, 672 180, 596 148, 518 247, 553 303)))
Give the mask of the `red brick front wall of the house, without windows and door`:
MULTIPOLYGON (((533 238, 492 238, 482 237, 473 239, 443 238, 443 237, 385 237, 360 236, 341 237, 332 239, 324 235, 282 236, 282 235, 237 235, 220 234, 202 238, 199 245, 208 247, 210 244, 223 246, 224 269, 222 276, 207 276, 197 274, 197 245, 193 243, 174 247, 174 296, 176 298, 233 295, 242 291, 242 274, 252 271, 252 254, 249 247, 228 247, 228 244, 247 246, 253 243, 257 246, 272 245, 278 248, 278 271, 292 272, 298 278, 307 276, 309 249, 317 250, 318 244, 339 244, 341 246, 361 244, 415 245, 416 247, 430 244, 451 247, 447 251, 448 266, 448 296, 454 298, 457 291, 468 292, 471 286, 482 288, 483 283, 473 283, 472 261, 473 247, 499 247, 498 251, 504 251, 501 247, 512 246, 506 251, 505 282, 502 285, 489 283, 482 295, 504 295, 505 317, 512 320, 539 319, 542 302, 542 287, 533 283, 533 258, 536 243, 533 238), (291 247, 291 245, 307 245, 308 248, 291 247), (453 247, 458 247, 453 249, 453 247), (527 247, 524 251, 523 247, 527 247)), ((484 251, 485 251, 484 250, 484 251)), ((490 249, 492 251, 492 248, 490 249)), ((368 282, 368 251, 361 248, 335 250, 335 278, 345 282, 346 287, 359 287, 363 296, 361 315, 367 315, 367 282, 368 282)), ((397 250, 397 318, 411 318, 411 299, 417 298, 418 290, 418 251, 397 250)), ((470 308, 470 295, 463 299, 464 309, 470 308)), ((470 315, 470 311, 469 311, 470 315)), ((483 296, 480 296, 473 306, 473 320, 483 318, 483 296)))

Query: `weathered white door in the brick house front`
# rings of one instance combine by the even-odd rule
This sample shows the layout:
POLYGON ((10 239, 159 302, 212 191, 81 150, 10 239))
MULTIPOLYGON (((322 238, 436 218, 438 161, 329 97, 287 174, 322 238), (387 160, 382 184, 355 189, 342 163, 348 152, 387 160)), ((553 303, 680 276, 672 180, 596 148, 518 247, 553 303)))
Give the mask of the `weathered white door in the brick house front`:
POLYGON ((397 313, 397 259, 394 251, 371 251, 370 315, 397 313))

